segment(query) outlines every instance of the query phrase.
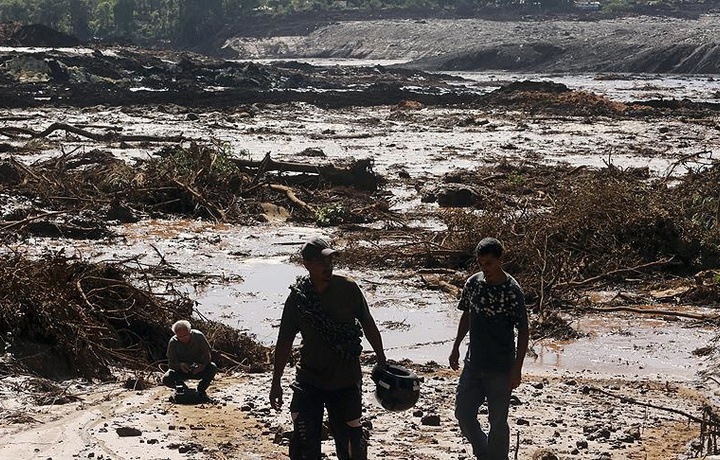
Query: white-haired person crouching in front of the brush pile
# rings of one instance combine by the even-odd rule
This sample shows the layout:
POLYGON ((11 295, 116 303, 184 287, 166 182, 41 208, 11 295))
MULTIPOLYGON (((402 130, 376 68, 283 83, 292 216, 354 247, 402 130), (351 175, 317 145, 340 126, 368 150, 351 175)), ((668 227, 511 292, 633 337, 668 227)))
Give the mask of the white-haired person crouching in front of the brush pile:
POLYGON ((175 322, 172 331, 175 335, 168 342, 169 369, 163 375, 163 385, 185 387, 185 380, 200 380, 198 397, 201 401, 209 401, 207 389, 217 372, 217 366, 211 361, 210 344, 202 332, 190 326, 189 321, 175 322))

